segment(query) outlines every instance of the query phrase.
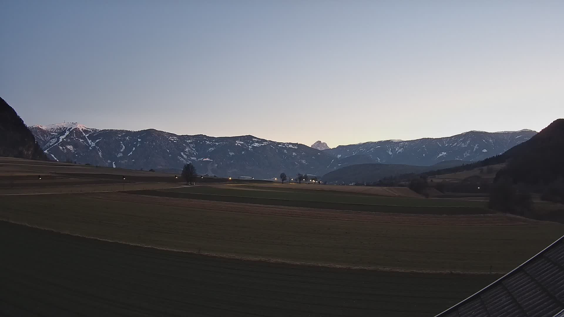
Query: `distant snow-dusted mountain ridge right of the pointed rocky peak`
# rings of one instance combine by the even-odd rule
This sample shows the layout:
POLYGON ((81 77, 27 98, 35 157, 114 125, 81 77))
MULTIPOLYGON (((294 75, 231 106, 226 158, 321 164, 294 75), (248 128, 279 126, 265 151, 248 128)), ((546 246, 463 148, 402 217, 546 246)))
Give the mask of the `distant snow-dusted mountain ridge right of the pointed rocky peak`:
POLYGON ((501 154, 530 139, 532 130, 484 132, 468 131, 446 138, 385 140, 338 146, 323 152, 335 157, 368 155, 386 164, 433 165, 440 161, 479 161, 501 154))

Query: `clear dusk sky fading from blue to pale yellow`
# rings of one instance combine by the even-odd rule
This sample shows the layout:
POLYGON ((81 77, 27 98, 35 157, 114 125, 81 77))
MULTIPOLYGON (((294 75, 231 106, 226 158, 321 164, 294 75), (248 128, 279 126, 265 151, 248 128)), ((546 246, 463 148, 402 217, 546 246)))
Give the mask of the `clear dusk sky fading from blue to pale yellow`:
POLYGON ((26 124, 330 147, 564 117, 564 1, 0 2, 26 124))

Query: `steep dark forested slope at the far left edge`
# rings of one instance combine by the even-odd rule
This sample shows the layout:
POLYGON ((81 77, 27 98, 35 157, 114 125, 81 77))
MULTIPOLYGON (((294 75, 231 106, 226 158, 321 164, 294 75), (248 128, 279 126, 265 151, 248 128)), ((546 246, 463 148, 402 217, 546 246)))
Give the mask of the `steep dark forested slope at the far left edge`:
POLYGON ((2 98, 0 98, 0 156, 47 160, 24 121, 2 98))

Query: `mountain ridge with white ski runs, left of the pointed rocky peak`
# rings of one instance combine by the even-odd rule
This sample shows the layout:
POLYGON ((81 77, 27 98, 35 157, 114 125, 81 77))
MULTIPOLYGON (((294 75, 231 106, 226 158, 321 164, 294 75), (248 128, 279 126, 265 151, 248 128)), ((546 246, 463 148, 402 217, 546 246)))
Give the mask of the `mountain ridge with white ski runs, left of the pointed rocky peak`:
POLYGON ((31 126, 47 155, 59 161, 77 161, 128 169, 180 172, 192 162, 200 174, 274 178, 281 172, 326 173, 334 158, 298 143, 255 138, 177 135, 154 129, 98 130, 80 124, 31 126))

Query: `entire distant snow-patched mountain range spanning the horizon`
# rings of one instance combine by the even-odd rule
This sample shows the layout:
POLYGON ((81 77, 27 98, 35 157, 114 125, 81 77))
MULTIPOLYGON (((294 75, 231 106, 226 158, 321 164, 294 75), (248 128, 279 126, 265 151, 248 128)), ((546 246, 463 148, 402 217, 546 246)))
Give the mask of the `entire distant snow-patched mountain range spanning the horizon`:
POLYGON ((271 179, 281 172, 321 177, 345 166, 375 162, 421 166, 451 160, 478 161, 503 153, 536 134, 532 130, 469 131, 447 138, 386 140, 319 150, 252 135, 208 137, 155 129, 99 130, 69 122, 29 129, 52 160, 175 173, 192 162, 200 174, 257 179, 271 179))

